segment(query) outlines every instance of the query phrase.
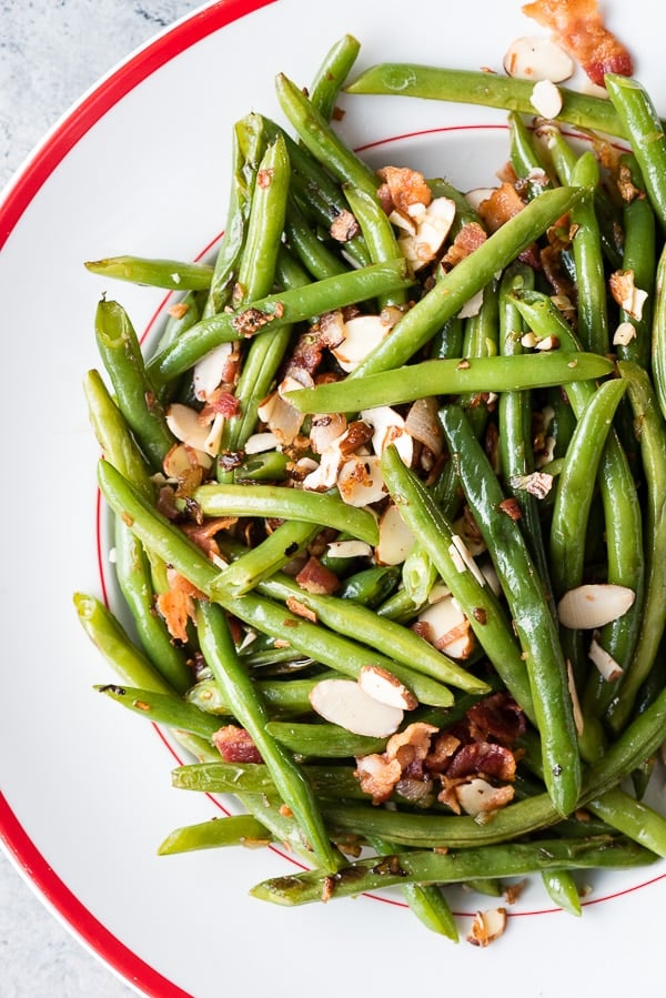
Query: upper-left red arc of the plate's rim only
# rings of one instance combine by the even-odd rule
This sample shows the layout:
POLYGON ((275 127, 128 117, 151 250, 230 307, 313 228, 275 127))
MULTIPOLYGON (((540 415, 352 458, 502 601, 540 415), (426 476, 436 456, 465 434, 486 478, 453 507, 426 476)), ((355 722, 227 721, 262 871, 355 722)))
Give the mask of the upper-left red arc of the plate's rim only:
POLYGON ((7 201, 0 206, 0 250, 42 184, 107 111, 151 73, 191 46, 220 28, 274 2, 275 0, 219 0, 218 3, 212 3, 141 49, 72 108, 67 119, 37 150, 13 185, 10 185, 7 201))

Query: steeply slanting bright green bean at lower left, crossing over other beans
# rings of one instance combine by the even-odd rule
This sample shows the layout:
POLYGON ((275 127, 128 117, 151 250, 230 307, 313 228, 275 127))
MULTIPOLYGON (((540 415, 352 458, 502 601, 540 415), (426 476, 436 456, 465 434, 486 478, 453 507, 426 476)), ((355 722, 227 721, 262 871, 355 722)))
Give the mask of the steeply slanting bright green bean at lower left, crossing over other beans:
POLYGON ((305 843, 324 869, 337 869, 341 856, 331 845, 310 784, 292 756, 266 734, 266 707, 238 657, 224 612, 219 606, 200 602, 196 629, 205 661, 234 716, 256 745, 280 797, 303 829, 305 843))

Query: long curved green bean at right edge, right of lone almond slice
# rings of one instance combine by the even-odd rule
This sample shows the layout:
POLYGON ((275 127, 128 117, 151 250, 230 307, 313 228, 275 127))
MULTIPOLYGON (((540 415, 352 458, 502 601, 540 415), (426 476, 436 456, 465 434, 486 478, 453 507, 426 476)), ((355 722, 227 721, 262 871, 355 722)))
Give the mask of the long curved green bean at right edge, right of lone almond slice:
POLYGON ((630 716, 635 698, 656 658, 666 627, 666 426, 646 372, 630 361, 619 361, 627 383, 647 487, 647 579, 640 634, 634 657, 619 681, 619 692, 608 708, 608 723, 617 733, 630 716))

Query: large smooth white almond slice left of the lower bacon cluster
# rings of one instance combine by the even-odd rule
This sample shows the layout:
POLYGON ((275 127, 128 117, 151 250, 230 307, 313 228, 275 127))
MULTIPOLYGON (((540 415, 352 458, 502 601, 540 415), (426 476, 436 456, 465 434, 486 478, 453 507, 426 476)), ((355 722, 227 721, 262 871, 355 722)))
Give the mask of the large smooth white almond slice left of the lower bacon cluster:
POLYGON ((400 707, 369 696, 353 679, 322 679, 310 693, 313 710, 355 735, 387 738, 402 724, 400 707))

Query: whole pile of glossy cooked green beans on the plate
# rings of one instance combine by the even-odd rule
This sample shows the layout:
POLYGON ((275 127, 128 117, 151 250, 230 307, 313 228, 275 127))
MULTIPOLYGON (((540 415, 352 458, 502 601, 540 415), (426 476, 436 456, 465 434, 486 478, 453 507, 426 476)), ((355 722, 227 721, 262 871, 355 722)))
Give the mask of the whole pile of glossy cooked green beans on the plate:
MULTIPOLYGON (((242 810, 174 829, 160 854, 287 844, 310 871, 264 880, 254 897, 293 906, 397 887, 423 925, 457 940, 447 885, 497 898, 509 878, 535 874, 581 915, 577 870, 666 857, 666 818, 645 799, 666 740, 666 139, 633 79, 608 75, 608 100, 563 90, 562 123, 622 141, 602 163, 601 141, 581 152, 559 120, 533 127, 524 81, 411 64, 352 79, 359 50, 340 39, 307 89, 276 77, 286 125, 258 112, 239 120, 213 260, 85 264, 178 290, 180 308, 144 355, 122 305, 99 302, 102 371, 88 372, 84 392, 124 606, 84 593, 74 606, 115 676, 95 689, 168 728, 192 757, 174 787, 231 795, 242 810), (335 130, 343 89, 347 113, 355 93, 503 108, 521 211, 455 265, 437 259, 414 273, 380 175, 335 130), (331 235, 343 213, 355 223, 346 242, 331 235), (566 293, 539 263, 552 245, 566 293), (618 275, 646 292, 642 310, 612 293, 618 275), (480 294, 482 313, 463 317, 480 294), (325 313, 350 309, 397 320, 346 375, 326 355, 311 385, 292 380, 283 402, 299 415, 301 451, 249 452, 294 351, 315 343, 325 313), (616 337, 618 327, 628 335, 616 337), (203 407, 193 371, 221 344, 235 357, 224 389, 236 406, 220 446, 195 472, 165 476, 179 446, 170 407, 203 407), (379 503, 303 487, 296 458, 316 462, 315 417, 363 422, 366 410, 406 413, 423 399, 435 402, 442 440, 430 467, 390 443, 379 503), (391 565, 377 556, 389 503, 413 536, 391 565), (496 586, 461 567, 461 516, 496 586), (332 540, 355 544, 354 555, 332 540), (334 579, 331 591, 300 584, 307 558, 334 579), (184 581, 178 637, 163 611, 174 576, 184 581), (594 583, 630 589, 629 609, 598 631, 565 627, 558 601, 594 583), (468 621, 468 661, 417 626, 442 588, 468 621), (612 679, 592 661, 593 641, 616 666, 612 679), (389 737, 324 720, 311 702, 322 679, 354 681, 369 665, 416 704, 401 730, 423 722, 454 733, 485 697, 515 702, 525 730, 513 800, 484 820, 400 785, 386 805, 373 803, 357 760, 384 753, 389 737), (250 758, 222 758, 216 737, 231 727, 250 739, 250 758)), ((427 183, 455 204, 442 256, 464 225, 483 223, 464 192, 427 183)))

